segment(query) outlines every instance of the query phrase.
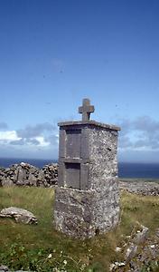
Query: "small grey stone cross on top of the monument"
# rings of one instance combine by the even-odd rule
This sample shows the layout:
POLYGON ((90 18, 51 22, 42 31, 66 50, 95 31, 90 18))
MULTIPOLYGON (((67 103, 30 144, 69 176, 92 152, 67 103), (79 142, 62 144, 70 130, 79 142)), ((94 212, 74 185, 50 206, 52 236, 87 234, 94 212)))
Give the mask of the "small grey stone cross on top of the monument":
POLYGON ((90 113, 94 112, 94 110, 94 106, 90 105, 89 99, 83 99, 82 106, 79 107, 79 113, 82 113, 82 121, 89 121, 90 113))

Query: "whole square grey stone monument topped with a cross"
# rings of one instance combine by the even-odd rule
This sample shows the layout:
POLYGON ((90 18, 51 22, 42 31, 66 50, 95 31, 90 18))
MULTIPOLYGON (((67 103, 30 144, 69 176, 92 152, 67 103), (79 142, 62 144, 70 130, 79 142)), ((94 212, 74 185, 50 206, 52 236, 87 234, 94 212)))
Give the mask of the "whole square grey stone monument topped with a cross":
POLYGON ((54 226, 75 238, 91 238, 117 225, 117 134, 119 127, 89 120, 94 106, 84 99, 82 121, 60 122, 59 178, 54 226))

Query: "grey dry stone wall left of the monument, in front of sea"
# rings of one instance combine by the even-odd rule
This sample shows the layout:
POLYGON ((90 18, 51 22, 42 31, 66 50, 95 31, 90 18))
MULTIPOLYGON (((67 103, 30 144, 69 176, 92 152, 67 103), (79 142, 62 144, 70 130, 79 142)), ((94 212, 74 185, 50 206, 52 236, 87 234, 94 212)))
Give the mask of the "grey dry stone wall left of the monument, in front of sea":
POLYGON ((45 165, 42 169, 24 162, 0 168, 0 186, 52 187, 57 184, 57 179, 57 163, 45 165))

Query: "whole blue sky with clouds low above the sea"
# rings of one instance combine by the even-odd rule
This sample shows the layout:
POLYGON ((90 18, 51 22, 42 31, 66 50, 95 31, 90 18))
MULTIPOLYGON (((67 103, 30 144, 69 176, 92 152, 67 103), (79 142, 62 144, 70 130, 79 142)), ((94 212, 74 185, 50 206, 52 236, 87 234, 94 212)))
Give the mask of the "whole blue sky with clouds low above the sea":
POLYGON ((89 98, 119 161, 159 162, 158 29, 158 0, 0 0, 0 157, 57 159, 89 98))

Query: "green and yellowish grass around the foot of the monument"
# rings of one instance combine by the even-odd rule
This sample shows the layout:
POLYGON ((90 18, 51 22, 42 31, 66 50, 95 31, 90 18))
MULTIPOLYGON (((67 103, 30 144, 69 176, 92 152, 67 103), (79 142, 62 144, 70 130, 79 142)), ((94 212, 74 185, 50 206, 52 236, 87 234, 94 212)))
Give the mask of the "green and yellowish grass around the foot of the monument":
POLYGON ((34 271, 108 271, 121 260, 122 246, 138 222, 153 235, 159 226, 159 197, 141 197, 123 192, 121 219, 116 229, 85 241, 68 238, 52 228, 53 189, 0 188, 0 209, 28 209, 38 225, 27 226, 14 219, 0 219, 0 264, 34 271))

